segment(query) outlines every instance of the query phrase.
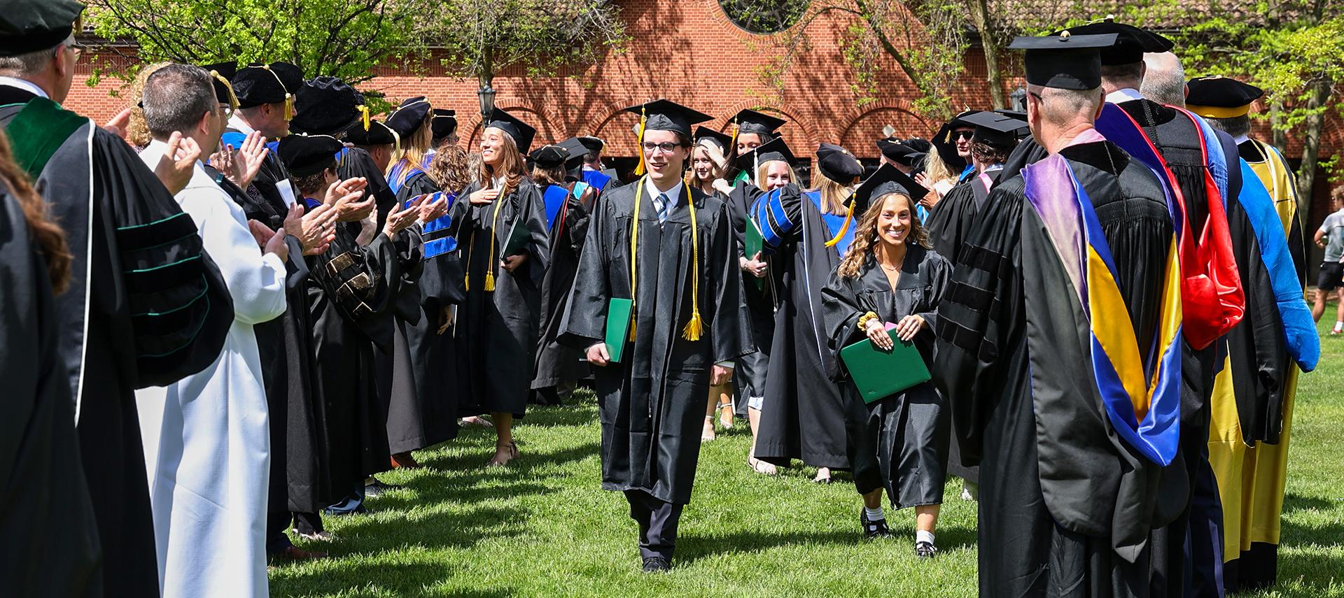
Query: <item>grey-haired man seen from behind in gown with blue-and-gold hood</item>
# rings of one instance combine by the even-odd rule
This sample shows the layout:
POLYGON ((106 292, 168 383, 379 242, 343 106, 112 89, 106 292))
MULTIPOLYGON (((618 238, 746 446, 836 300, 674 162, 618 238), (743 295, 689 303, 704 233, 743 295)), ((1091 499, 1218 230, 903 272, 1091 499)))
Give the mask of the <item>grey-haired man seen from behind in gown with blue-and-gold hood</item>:
POLYGON ((938 308, 933 371, 980 465, 986 597, 1149 595, 1149 535, 1167 523, 1180 267, 1159 180, 1091 126, 1111 43, 1015 40, 1048 157, 989 194, 938 308))

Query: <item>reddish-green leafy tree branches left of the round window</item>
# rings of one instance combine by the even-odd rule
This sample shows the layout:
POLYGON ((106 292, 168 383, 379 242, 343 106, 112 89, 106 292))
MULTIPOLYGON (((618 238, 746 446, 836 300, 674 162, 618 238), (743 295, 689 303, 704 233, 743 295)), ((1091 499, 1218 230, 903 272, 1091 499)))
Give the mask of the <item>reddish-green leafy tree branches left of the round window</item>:
POLYGON ((444 67, 482 86, 504 67, 551 75, 625 43, 620 8, 609 0, 442 0, 434 11, 444 67))

